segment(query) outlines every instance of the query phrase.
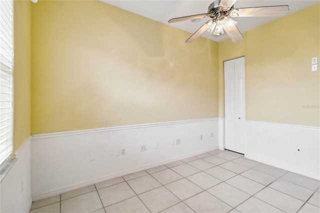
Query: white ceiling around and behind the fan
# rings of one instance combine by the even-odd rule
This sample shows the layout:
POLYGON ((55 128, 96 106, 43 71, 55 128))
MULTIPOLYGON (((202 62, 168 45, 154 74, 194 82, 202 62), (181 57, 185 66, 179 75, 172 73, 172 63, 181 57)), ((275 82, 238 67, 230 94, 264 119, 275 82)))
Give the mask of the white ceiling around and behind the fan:
MULTIPOLYGON (((180 21, 176 23, 168 23, 170 18, 187 16, 193 14, 206 13, 208 5, 214 0, 101 0, 105 3, 117 6, 127 11, 142 15, 155 21, 171 25, 188 32, 195 32, 209 18, 202 18, 199 22, 194 23, 190 20, 180 21)), ((255 6, 274 6, 288 5, 289 13, 296 12, 313 4, 319 3, 320 0, 237 0, 234 8, 255 7, 255 6)), ((232 18, 238 21, 237 27, 240 32, 265 24, 278 17, 238 17, 232 18)), ((303 18, 303 17, 301 17, 303 18)), ((285 26, 283 26, 285 27, 285 26)), ((215 37, 205 31, 203 37, 214 41, 222 41, 228 39, 224 33, 215 37)), ((187 39, 187 37, 183 38, 187 39)))

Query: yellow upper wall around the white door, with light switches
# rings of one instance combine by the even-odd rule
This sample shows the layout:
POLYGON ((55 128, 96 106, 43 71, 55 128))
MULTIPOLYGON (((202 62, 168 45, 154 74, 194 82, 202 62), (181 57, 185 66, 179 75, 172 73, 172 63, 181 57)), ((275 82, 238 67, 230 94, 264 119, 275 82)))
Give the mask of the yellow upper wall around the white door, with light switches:
POLYGON ((222 61, 245 55, 246 119, 320 125, 319 68, 311 72, 311 58, 320 56, 319 11, 316 4, 249 30, 242 44, 219 43, 219 116, 224 116, 222 61))

